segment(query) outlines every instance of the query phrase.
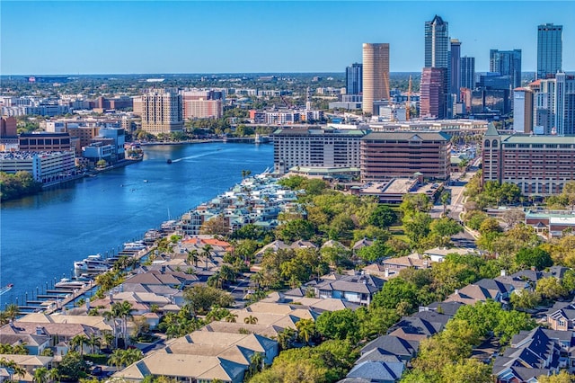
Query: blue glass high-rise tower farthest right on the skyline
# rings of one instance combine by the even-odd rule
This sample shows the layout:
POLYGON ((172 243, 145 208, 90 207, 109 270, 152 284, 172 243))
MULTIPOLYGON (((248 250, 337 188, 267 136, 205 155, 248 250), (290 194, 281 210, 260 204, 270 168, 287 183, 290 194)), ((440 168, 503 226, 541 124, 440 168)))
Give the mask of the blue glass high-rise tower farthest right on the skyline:
POLYGON ((537 78, 555 76, 562 70, 562 25, 537 27, 537 78))

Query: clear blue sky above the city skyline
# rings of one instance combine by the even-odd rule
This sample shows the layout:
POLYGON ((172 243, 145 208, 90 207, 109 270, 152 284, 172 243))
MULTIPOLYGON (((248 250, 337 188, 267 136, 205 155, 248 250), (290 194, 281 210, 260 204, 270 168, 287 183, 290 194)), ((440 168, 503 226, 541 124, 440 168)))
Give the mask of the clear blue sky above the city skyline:
POLYGON ((420 71, 435 14, 477 71, 489 49, 523 49, 535 70, 537 25, 562 24, 575 70, 575 1, 2 0, 0 74, 343 72, 363 42, 389 42, 393 72, 420 71))

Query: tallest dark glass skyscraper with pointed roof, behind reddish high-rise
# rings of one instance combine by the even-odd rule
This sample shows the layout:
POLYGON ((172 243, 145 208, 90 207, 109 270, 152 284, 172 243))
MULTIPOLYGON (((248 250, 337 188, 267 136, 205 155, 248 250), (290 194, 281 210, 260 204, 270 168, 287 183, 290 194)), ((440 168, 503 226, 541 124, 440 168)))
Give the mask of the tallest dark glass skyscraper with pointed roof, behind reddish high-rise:
POLYGON ((425 67, 448 67, 449 30, 437 14, 425 22, 425 67))

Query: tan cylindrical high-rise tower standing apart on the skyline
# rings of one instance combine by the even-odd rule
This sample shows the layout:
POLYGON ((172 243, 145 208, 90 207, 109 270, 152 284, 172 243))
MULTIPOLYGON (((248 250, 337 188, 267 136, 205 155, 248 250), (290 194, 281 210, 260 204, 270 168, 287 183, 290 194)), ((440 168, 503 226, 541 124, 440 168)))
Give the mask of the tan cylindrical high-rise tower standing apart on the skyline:
POLYGON ((363 44, 363 111, 374 114, 374 101, 389 100, 389 44, 363 44))

